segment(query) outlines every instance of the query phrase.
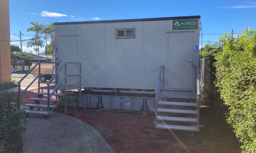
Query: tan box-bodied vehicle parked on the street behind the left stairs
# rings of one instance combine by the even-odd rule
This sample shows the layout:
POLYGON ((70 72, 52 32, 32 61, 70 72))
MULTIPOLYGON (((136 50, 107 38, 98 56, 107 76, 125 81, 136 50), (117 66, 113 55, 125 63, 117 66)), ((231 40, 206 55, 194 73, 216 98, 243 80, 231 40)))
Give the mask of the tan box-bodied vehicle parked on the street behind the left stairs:
MULTIPOLYGON (((34 67, 37 63, 32 63, 31 67, 34 67)), ((41 63, 40 66, 40 74, 49 74, 49 75, 42 75, 40 77, 41 82, 45 82, 46 80, 50 80, 52 78, 52 75, 55 72, 55 64, 53 63, 41 63)), ((33 74, 34 77, 36 77, 39 74, 38 66, 31 71, 31 74, 33 74)))

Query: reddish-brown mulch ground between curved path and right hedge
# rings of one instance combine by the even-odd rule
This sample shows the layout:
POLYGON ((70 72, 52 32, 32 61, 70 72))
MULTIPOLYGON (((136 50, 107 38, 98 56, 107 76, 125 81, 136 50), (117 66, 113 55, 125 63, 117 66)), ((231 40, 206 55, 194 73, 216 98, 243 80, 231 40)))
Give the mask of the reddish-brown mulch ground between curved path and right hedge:
MULTIPOLYGON (((37 97, 34 92, 37 89, 25 92, 21 98, 24 104, 33 103, 27 99, 37 97)), ((64 113, 64 107, 60 106, 55 111, 64 113)), ((77 107, 67 107, 67 111, 67 115, 94 127, 118 153, 242 152, 232 129, 215 117, 212 107, 200 107, 200 125, 204 128, 194 132, 194 136, 189 131, 155 129, 155 116, 151 114, 144 117, 142 114, 77 107)))

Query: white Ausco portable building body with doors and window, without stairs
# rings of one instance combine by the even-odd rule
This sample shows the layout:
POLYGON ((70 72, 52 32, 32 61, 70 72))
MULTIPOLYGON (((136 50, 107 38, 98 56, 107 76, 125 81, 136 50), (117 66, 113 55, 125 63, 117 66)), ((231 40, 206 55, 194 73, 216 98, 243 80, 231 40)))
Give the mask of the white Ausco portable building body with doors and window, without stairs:
MULTIPOLYGON (((194 91, 199 22, 200 16, 56 22, 55 58, 82 63, 82 87, 155 90, 165 65, 163 90, 194 91)), ((67 73, 76 74, 76 65, 67 73)))

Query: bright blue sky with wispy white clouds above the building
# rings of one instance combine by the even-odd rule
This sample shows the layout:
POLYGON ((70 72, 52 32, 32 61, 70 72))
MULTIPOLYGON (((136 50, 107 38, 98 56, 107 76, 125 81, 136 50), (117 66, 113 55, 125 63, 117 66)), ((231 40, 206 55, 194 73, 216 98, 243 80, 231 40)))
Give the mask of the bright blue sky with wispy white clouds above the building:
MULTIPOLYGON (((256 29, 256 1, 213 0, 10 0, 10 38, 30 39, 34 32, 27 32, 31 21, 47 25, 51 22, 74 22, 93 20, 138 19, 201 15, 203 45, 207 40, 217 41, 222 32, 234 33, 246 27, 256 29), (16 34, 16 35, 13 35, 16 34)), ((48 39, 48 42, 50 39, 48 39)), ((20 46, 20 42, 11 42, 20 46)), ((200 37, 201 45, 201 37, 200 37)), ((22 44, 23 51, 36 53, 22 44)), ((40 48, 40 53, 44 48, 40 48)))

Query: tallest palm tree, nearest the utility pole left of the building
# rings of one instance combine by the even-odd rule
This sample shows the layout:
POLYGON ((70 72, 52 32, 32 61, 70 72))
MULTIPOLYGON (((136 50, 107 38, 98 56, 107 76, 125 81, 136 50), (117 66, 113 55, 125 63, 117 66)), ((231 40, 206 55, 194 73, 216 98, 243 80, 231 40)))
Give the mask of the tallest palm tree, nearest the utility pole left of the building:
POLYGON ((34 31, 35 32, 35 37, 34 38, 37 39, 37 41, 35 41, 35 42, 36 42, 36 49, 38 50, 38 61, 39 61, 39 46, 41 46, 41 48, 42 48, 42 46, 44 46, 42 44, 44 42, 43 41, 39 41, 39 40, 41 40, 41 39, 39 39, 40 38, 39 34, 42 33, 45 25, 39 24, 38 21, 37 22, 31 21, 30 24, 32 24, 33 27, 28 28, 27 32, 29 32, 29 31, 34 31), (39 44, 39 42, 42 42, 42 43, 39 44), (38 46, 38 48, 37 48, 37 46, 38 46))

